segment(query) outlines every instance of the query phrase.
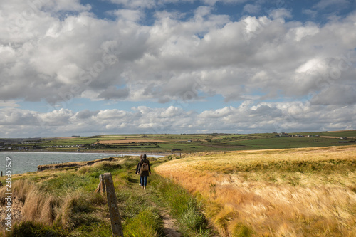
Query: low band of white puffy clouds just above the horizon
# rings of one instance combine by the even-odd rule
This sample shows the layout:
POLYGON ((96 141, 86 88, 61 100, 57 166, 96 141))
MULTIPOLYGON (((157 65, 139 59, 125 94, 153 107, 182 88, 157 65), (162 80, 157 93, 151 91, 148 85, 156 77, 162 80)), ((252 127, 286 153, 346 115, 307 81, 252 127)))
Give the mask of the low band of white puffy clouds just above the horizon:
POLYGON ((11 134, 23 137, 32 132, 34 137, 53 134, 110 133, 194 133, 194 132, 298 132, 356 129, 355 105, 314 105, 310 102, 246 101, 239 107, 224 107, 203 112, 185 111, 170 106, 145 106, 125 110, 83 110, 73 112, 61 109, 39 113, 17 108, 0 109, 1 136, 11 134), (326 106, 326 107, 325 107, 326 106), (318 120, 315 120, 318 118, 318 120), (14 130, 21 127, 21 130, 14 130))

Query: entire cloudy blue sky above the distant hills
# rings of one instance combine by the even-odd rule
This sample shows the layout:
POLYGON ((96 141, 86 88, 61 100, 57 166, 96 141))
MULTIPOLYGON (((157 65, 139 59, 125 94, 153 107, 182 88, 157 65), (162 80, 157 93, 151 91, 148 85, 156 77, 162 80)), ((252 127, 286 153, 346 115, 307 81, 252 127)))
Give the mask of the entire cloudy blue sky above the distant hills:
POLYGON ((356 0, 0 0, 0 137, 356 129, 356 0))

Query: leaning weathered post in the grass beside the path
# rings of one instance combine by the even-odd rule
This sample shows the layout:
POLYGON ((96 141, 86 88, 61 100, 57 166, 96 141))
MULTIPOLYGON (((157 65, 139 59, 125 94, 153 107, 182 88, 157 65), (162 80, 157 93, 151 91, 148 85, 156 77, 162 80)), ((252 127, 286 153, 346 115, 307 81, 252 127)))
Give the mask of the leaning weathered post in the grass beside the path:
POLYGON ((105 181, 106 196, 108 198, 112 236, 123 237, 124 233, 122 232, 121 218, 119 208, 117 207, 114 182, 112 181, 111 173, 105 173, 103 177, 105 181))

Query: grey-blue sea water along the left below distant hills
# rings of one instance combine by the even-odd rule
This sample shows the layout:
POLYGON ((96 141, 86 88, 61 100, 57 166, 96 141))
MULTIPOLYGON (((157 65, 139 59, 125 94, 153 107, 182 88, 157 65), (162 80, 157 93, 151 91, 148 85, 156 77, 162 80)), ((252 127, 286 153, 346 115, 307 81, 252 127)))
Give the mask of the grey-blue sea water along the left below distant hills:
MULTIPOLYGON (((40 164, 65 162, 85 162, 107 157, 139 156, 140 154, 84 153, 84 152, 0 152, 0 172, 6 174, 6 166, 11 174, 36 172, 40 164), (7 161, 7 162, 6 162, 7 161), (8 161, 11 161, 9 163, 8 161), (9 167, 10 166, 10 167, 9 167)), ((147 157, 162 157, 147 154, 147 157)))

